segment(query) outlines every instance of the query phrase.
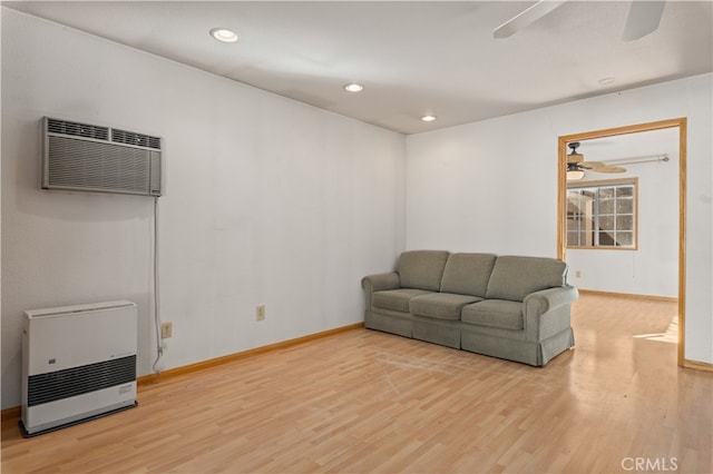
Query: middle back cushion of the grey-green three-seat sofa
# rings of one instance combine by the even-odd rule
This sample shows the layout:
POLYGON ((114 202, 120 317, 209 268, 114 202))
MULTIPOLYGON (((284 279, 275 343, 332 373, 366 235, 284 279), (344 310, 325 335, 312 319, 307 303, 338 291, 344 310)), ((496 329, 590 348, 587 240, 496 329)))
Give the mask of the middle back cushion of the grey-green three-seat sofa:
POLYGON ((451 254, 443 270, 441 292, 485 297, 495 259, 494 254, 451 254))

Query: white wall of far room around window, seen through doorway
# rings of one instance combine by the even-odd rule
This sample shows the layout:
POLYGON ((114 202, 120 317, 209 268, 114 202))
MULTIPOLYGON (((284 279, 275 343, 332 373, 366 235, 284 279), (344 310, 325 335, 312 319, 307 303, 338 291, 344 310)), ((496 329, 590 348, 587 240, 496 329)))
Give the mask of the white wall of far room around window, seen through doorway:
POLYGON ((568 249, 569 279, 583 289, 633 295, 678 295, 678 128, 582 141, 587 161, 667 155, 668 161, 624 165, 625 172, 587 171, 582 181, 638 179, 638 246, 626 249, 568 249))

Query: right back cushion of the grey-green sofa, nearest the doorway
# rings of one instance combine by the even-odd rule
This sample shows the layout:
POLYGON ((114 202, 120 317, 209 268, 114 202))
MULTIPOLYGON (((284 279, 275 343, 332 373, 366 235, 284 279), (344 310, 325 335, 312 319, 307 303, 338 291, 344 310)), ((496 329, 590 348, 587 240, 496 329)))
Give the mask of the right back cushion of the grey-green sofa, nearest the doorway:
POLYGON ((530 293, 565 285, 566 275, 567 264, 555 258, 498 257, 486 297, 521 302, 530 293))

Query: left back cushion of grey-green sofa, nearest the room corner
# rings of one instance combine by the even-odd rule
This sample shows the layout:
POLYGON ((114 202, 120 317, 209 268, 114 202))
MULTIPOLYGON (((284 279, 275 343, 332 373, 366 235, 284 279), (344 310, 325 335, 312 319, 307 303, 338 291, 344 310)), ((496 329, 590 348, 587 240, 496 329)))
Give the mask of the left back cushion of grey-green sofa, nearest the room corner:
POLYGON ((446 250, 411 250, 401 254, 397 265, 401 287, 438 292, 448 255, 446 250))

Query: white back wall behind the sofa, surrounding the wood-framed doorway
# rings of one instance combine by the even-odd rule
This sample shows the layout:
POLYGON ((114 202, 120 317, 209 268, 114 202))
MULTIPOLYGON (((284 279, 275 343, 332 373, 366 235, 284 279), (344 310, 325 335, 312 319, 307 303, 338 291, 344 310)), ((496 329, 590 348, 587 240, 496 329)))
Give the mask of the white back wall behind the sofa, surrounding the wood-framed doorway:
POLYGON ((409 136, 407 248, 557 255, 557 139, 687 117, 685 357, 713 363, 713 75, 409 136))

